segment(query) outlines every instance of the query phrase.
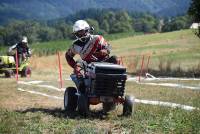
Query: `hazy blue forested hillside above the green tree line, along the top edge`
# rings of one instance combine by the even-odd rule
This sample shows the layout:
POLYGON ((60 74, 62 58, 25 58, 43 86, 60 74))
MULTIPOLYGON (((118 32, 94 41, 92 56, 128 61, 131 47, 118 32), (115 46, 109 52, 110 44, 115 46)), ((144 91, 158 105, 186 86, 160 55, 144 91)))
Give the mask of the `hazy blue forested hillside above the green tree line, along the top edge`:
POLYGON ((88 8, 112 8, 128 11, 150 12, 158 16, 185 14, 191 0, 1 0, 0 23, 12 19, 49 20, 66 17, 88 8))

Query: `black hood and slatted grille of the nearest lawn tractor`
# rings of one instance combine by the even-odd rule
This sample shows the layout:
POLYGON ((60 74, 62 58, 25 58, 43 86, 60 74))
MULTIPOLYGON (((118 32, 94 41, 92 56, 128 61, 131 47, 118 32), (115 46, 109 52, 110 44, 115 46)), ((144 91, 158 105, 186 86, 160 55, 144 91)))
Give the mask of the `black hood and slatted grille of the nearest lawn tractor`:
POLYGON ((88 65, 90 92, 96 96, 123 96, 127 79, 126 68, 121 65, 93 62, 88 65))

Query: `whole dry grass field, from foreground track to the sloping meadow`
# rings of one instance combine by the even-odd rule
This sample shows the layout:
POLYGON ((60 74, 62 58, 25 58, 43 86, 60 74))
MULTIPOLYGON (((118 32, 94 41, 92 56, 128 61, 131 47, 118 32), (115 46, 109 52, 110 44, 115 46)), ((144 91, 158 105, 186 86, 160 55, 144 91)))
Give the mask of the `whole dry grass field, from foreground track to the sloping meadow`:
MULTIPOLYGON (((60 44, 64 43, 60 42, 60 44)), ((159 68, 161 61, 166 64, 168 59, 173 60, 173 66, 180 62, 183 68, 199 64, 200 41, 189 30, 132 36, 112 40, 110 43, 113 46, 113 54, 124 56, 124 64, 130 67, 129 71, 140 67, 143 54, 151 54, 149 64, 151 68, 159 68)), ((64 87, 73 86, 74 84, 67 80, 72 69, 65 62, 64 52, 61 53, 61 58, 64 87)), ((40 85, 59 87, 57 62, 56 55, 33 56, 31 58, 32 76, 19 80, 26 82, 40 80, 43 81, 40 85)), ((46 93, 60 98, 63 98, 63 91, 39 87, 38 84, 17 84, 14 78, 6 79, 1 76, 0 79, 0 133, 200 133, 199 110, 187 111, 181 108, 135 103, 134 114, 123 117, 120 116, 121 106, 104 116, 100 112, 101 106, 98 105, 91 107, 90 115, 85 118, 77 112, 64 112, 61 99, 17 89, 46 93)), ((152 82, 200 87, 200 80, 152 82)), ((128 81, 126 94, 141 100, 171 102, 200 108, 200 90, 150 86, 128 81)))

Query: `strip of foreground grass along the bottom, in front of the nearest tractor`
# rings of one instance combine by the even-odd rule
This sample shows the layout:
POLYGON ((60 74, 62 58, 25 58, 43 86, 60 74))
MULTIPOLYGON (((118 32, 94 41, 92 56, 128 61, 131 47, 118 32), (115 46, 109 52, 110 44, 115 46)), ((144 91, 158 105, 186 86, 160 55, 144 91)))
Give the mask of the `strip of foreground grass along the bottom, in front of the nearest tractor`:
POLYGON ((131 117, 113 113, 104 119, 79 115, 71 118, 55 109, 52 112, 39 108, 35 112, 0 110, 0 133, 200 133, 199 111, 148 105, 137 105, 135 109, 131 117))

